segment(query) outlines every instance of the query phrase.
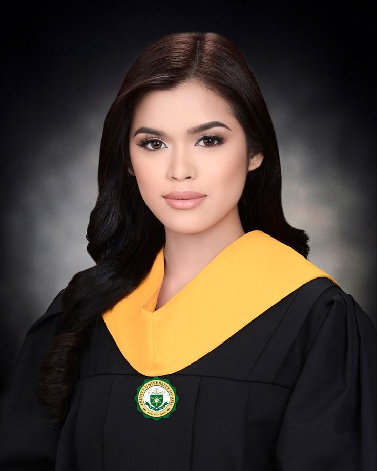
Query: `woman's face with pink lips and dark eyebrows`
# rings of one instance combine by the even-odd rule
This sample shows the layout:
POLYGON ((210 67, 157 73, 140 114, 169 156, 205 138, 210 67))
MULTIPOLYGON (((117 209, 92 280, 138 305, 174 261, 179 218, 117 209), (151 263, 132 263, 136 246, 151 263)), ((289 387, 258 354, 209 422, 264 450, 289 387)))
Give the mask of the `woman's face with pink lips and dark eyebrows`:
POLYGON ((129 139, 134 170, 129 172, 145 204, 165 230, 185 234, 224 218, 234 224, 247 172, 263 159, 262 154, 248 159, 245 133, 228 103, 195 82, 147 94, 134 112, 129 139), (193 129, 206 123, 212 124, 193 129), (205 196, 199 205, 194 200, 177 208, 164 198, 172 191, 205 196))

